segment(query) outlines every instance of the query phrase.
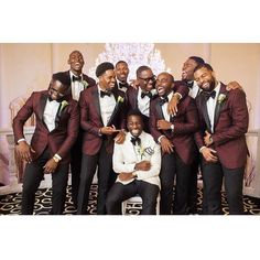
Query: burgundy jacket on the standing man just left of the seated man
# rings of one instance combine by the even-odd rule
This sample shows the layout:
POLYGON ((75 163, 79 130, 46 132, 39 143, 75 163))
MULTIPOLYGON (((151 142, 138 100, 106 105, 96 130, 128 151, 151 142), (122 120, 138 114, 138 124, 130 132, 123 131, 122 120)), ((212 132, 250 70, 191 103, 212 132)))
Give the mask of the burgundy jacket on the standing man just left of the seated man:
POLYGON ((104 126, 98 97, 98 87, 87 88, 80 93, 80 127, 84 130, 83 152, 88 155, 98 153, 104 141, 106 141, 107 152, 113 151, 113 138, 100 136, 99 129, 102 127, 115 126, 116 129, 126 129, 126 98, 124 93, 113 89, 112 95, 116 99, 116 107, 107 126, 104 126), (120 98, 119 98, 120 97, 120 98))

